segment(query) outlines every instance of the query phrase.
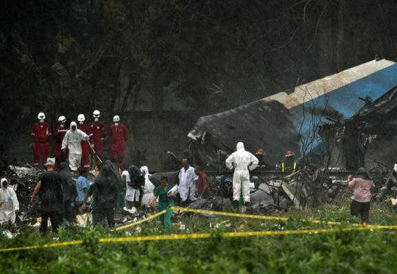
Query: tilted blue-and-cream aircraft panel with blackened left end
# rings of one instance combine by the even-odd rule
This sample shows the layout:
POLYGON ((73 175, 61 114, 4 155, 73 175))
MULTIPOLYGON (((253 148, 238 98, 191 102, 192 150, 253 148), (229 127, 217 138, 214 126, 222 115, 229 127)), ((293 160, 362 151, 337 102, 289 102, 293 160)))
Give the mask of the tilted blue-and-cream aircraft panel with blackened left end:
POLYGON ((397 64, 372 60, 302 84, 292 93, 200 117, 188 137, 204 163, 215 164, 217 152, 233 152, 238 141, 251 152, 264 148, 270 165, 279 163, 286 150, 293 150, 298 159, 310 155, 322 161, 330 148, 319 136, 319 126, 350 119, 365 100, 376 101, 396 85, 397 64))

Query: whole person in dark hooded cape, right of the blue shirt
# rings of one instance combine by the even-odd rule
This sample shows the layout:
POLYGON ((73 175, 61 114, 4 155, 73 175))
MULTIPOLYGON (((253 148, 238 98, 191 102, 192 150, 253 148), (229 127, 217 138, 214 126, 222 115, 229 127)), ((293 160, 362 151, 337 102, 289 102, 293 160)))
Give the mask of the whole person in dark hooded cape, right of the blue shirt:
MULTIPOLYGON (((114 227, 114 205, 116 203, 118 187, 116 170, 111 161, 107 160, 101 165, 99 174, 92 186, 94 203, 96 210, 92 212, 92 224, 97 225, 107 218, 109 227, 114 227)), ((83 208, 86 207, 88 195, 83 202, 83 208)))

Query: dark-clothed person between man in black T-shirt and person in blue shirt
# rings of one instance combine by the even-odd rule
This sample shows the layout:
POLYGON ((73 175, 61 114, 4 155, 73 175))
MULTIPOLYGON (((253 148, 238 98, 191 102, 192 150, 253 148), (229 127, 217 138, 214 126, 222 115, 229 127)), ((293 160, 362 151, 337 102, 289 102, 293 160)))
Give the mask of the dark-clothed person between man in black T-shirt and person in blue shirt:
POLYGON ((76 184, 70 174, 69 166, 66 162, 59 165, 59 176, 61 176, 61 185, 63 193, 63 218, 67 222, 74 222, 74 210, 72 204, 76 200, 76 184))

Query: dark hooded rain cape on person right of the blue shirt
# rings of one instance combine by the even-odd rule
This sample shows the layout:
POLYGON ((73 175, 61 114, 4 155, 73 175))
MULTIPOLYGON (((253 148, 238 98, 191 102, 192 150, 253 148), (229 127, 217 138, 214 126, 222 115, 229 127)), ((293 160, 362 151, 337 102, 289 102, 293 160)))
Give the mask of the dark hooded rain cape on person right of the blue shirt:
POLYGON ((94 182, 94 201, 98 208, 113 208, 118 194, 118 178, 111 161, 107 160, 100 167, 99 175, 94 182))

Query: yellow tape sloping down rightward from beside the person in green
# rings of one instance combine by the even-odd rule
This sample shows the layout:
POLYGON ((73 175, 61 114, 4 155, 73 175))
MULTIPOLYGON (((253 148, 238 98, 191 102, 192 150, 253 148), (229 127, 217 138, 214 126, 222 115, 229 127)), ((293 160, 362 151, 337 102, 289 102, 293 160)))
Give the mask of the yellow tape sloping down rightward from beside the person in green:
MULTIPOLYGON (((250 215, 250 214, 238 214, 238 213, 230 213, 230 212, 215 212, 211 210, 204 209, 192 209, 185 207, 170 207, 174 210, 179 210, 181 212, 195 212, 201 214, 213 214, 220 216, 230 216, 230 217, 239 217, 239 218, 252 218, 252 219, 261 219, 261 220, 290 220, 290 218, 286 217, 274 217, 274 216, 261 216, 261 215, 250 215)), ((323 224, 323 225, 342 225, 341 222, 332 222, 326 220, 303 220, 307 222, 312 222, 313 224, 323 224)))

